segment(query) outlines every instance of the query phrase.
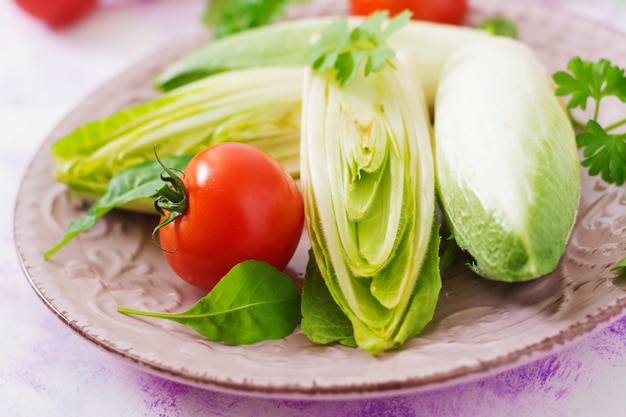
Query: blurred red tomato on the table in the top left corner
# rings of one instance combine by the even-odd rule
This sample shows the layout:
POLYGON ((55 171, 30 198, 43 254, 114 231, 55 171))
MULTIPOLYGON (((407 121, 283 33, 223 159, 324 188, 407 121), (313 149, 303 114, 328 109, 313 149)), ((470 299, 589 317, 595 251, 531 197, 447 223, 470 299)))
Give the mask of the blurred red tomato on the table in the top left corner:
POLYGON ((86 15, 98 0, 15 0, 15 3, 31 16, 58 27, 86 15))

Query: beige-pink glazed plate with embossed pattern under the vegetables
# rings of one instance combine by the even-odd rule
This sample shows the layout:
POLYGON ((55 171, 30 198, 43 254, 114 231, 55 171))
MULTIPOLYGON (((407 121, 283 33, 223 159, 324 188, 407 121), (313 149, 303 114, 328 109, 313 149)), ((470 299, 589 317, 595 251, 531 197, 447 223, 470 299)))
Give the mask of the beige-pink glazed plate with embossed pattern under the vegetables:
MULTIPOLYGON (((626 38, 608 29, 516 2, 482 1, 472 21, 502 14, 548 69, 575 55, 626 65, 626 38), (621 59, 621 61, 620 61, 621 59)), ((15 240, 28 280, 73 330, 140 368, 207 389, 284 398, 383 396, 440 387, 537 359, 620 318, 624 286, 610 268, 626 256, 626 187, 583 175, 577 225, 559 268, 524 284, 488 282, 459 268, 444 277, 433 322, 402 349, 374 358, 314 346, 297 330, 248 346, 213 343, 177 323, 131 317, 118 306, 182 311, 203 294, 173 275, 150 241, 155 219, 115 212, 50 261, 43 253, 84 207, 56 183, 51 143, 73 127, 154 93, 151 77, 178 54, 133 67, 81 103, 51 133, 28 169, 15 211, 15 240)), ((308 241, 290 265, 301 279, 308 241)))

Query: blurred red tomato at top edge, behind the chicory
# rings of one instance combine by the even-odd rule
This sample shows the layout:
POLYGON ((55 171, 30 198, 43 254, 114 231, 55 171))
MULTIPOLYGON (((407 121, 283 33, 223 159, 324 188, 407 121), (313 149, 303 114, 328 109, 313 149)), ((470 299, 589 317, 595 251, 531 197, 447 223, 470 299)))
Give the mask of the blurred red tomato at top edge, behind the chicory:
POLYGON ((467 0, 350 0, 353 15, 366 16, 389 10, 391 16, 408 9, 412 19, 460 25, 468 12, 467 0))

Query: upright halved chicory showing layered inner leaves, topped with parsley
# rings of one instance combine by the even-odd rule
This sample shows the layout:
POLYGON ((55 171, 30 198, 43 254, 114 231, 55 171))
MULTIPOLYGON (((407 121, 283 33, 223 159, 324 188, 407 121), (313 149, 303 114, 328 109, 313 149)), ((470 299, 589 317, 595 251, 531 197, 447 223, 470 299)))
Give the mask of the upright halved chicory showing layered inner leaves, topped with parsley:
POLYGON ((311 247, 358 347, 401 346, 431 320, 435 218, 428 111, 412 61, 359 74, 305 72, 301 175, 311 247))

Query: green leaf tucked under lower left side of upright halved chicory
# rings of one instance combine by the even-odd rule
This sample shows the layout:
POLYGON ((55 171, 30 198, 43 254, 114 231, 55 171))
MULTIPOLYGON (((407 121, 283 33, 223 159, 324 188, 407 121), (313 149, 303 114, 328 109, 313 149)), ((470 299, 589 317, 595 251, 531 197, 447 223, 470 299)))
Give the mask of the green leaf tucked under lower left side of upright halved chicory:
POLYGON ((309 256, 302 289, 301 327, 313 343, 356 347, 352 324, 330 295, 313 256, 309 256))

